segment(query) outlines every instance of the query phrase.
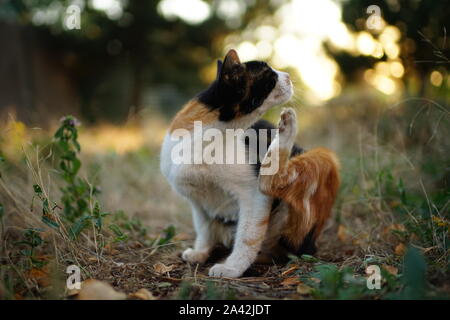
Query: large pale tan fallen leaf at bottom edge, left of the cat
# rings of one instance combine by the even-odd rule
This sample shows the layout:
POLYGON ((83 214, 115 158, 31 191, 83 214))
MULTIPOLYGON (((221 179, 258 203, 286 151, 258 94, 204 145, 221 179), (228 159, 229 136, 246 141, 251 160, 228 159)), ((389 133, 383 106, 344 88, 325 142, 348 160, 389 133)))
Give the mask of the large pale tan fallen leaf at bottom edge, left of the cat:
POLYGON ((115 290, 109 283, 88 279, 81 283, 78 300, 123 300, 127 295, 115 290))

